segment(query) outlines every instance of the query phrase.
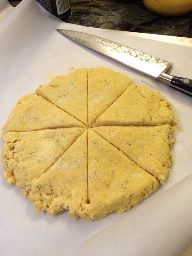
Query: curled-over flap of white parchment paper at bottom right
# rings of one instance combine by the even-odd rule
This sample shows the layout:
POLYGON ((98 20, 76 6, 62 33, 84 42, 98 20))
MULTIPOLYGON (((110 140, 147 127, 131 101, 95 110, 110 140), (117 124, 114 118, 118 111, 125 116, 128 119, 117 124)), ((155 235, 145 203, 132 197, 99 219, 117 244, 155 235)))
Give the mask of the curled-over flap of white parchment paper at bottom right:
POLYGON ((176 256, 191 241, 191 200, 192 174, 83 242, 80 255, 176 256))

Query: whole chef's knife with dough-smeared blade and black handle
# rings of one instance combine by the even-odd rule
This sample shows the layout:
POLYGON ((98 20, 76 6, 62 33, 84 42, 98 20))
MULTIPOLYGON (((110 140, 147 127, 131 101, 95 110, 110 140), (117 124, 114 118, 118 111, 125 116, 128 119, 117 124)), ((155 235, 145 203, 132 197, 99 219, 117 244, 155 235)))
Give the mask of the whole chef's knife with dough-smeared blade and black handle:
POLYGON ((153 77, 181 92, 192 95, 192 80, 168 74, 168 70, 173 65, 169 61, 95 35, 67 29, 56 30, 93 51, 153 77))

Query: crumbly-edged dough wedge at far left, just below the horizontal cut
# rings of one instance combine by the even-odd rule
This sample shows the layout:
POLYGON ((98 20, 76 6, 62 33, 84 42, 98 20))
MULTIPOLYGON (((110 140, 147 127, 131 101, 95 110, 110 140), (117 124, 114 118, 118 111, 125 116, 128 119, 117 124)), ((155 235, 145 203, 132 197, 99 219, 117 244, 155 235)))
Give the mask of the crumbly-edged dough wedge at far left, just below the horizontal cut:
POLYGON ((2 163, 7 182, 22 188, 27 197, 34 180, 45 173, 83 131, 84 128, 63 128, 4 134, 2 163))

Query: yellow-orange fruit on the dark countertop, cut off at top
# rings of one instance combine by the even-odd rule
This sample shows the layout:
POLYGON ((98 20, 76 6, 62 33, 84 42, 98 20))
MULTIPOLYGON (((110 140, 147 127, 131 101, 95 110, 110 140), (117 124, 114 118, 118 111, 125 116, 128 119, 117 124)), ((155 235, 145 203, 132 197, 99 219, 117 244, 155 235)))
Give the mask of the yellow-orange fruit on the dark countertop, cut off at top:
POLYGON ((143 0, 147 9, 163 16, 179 16, 192 11, 192 0, 143 0))

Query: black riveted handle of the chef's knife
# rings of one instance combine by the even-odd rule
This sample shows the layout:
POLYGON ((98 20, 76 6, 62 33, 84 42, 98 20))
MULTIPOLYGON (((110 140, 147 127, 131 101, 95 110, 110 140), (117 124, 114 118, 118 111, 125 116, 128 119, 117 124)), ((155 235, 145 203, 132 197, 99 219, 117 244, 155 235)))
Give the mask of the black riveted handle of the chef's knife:
POLYGON ((183 77, 174 77, 171 79, 170 86, 183 91, 184 93, 190 94, 192 96, 192 80, 183 77))

